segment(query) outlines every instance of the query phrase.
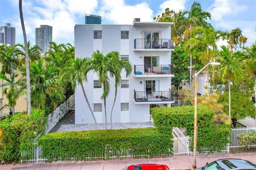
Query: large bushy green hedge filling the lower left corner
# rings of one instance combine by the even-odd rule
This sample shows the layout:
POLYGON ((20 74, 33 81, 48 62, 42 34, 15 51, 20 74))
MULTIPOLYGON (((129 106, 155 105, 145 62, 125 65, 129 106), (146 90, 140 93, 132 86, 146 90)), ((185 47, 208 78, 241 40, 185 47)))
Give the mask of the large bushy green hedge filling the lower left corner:
POLYGON ((0 137, 0 163, 13 163, 20 160, 20 154, 33 145, 36 136, 45 128, 44 112, 33 111, 18 113, 0 121, 0 129, 3 131, 0 137))

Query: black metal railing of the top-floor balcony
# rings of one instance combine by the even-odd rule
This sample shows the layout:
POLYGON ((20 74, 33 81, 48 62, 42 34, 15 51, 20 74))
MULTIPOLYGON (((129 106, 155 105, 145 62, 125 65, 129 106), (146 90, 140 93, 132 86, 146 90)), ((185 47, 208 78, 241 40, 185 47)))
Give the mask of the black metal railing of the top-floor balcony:
POLYGON ((134 49, 173 49, 172 39, 134 39, 134 49))

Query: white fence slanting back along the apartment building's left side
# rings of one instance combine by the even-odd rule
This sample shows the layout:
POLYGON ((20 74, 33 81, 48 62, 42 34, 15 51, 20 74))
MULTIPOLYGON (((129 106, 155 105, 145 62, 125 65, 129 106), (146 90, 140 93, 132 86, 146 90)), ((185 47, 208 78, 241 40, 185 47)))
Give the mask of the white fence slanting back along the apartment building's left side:
POLYGON ((47 117, 45 133, 48 133, 74 105, 75 95, 72 95, 66 101, 64 101, 59 107, 57 107, 55 111, 47 117))

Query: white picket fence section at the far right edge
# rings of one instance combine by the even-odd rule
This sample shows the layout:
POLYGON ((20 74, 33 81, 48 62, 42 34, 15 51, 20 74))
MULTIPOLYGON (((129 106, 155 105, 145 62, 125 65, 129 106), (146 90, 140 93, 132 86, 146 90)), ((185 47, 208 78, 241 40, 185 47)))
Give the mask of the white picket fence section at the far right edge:
MULTIPOLYGON (((237 136, 239 134, 252 133, 252 132, 256 132, 256 127, 233 128, 231 130, 231 135, 230 135, 230 148, 243 148, 237 136)), ((251 147, 256 147, 256 143, 254 143, 254 145, 252 145, 251 147)))

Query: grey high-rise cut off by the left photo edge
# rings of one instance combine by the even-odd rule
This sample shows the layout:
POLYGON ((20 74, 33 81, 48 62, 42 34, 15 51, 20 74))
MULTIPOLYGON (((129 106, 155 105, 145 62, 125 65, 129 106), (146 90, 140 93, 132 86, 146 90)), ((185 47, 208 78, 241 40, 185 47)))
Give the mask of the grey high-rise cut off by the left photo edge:
POLYGON ((15 44, 15 38, 16 38, 16 30, 14 27, 11 27, 10 23, 6 23, 5 26, 1 27, 0 31, 0 42, 3 41, 3 44, 13 46, 15 44), (2 38, 2 36, 4 38, 2 38), (4 39, 4 40, 3 40, 4 39))

